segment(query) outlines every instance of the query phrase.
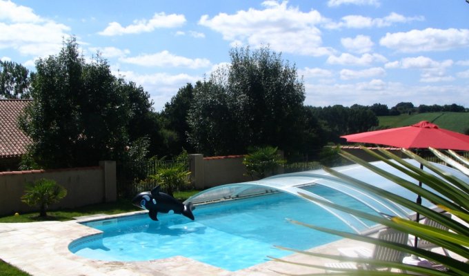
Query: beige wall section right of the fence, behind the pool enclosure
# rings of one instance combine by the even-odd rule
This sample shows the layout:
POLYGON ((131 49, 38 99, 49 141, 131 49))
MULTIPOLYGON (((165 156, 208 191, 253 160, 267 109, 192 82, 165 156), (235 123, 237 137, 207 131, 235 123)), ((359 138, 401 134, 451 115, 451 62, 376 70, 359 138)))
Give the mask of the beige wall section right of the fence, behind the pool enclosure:
POLYGON ((243 155, 205 157, 190 155, 190 170, 196 188, 210 188, 222 184, 251 181, 243 165, 243 155))

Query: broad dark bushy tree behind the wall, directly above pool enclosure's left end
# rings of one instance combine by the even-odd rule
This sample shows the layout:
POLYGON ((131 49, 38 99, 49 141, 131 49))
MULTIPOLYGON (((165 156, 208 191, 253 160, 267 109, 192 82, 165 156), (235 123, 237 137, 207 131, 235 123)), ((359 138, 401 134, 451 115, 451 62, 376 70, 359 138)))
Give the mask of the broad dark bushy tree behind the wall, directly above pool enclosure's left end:
POLYGON ((302 150, 305 96, 295 66, 269 48, 234 48, 230 58, 230 66, 194 88, 188 119, 195 148, 206 154, 266 144, 287 153, 302 150))

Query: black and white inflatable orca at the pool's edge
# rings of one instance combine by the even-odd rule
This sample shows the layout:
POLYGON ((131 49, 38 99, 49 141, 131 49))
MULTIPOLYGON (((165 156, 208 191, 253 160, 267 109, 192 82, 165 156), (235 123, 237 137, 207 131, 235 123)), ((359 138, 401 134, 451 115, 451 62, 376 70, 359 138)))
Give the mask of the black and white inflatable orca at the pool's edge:
POLYGON ((148 210, 148 215, 150 219, 158 220, 157 215, 159 213, 168 213, 170 210, 173 210, 175 214, 182 214, 185 217, 188 217, 194 220, 194 215, 192 210, 194 206, 191 203, 181 204, 177 199, 171 197, 166 193, 161 193, 159 186, 155 187, 151 193, 143 192, 139 193, 132 199, 132 204, 143 210, 148 210))

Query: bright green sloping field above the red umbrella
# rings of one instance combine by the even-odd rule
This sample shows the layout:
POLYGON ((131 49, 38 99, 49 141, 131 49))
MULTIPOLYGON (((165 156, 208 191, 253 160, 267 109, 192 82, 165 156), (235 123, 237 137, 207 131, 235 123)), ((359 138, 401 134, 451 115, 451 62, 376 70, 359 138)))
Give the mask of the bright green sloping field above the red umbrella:
POLYGON ((410 126, 419 121, 430 121, 440 128, 464 133, 469 130, 469 112, 429 112, 415 115, 380 116, 379 126, 397 128, 410 126))

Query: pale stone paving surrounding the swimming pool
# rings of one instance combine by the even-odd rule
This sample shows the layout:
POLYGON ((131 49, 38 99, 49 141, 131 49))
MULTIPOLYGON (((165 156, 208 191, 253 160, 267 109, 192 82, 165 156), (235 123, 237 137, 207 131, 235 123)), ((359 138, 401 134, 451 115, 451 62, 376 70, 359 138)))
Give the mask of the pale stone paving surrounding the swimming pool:
MULTIPOLYGON (((110 218, 115 216, 103 216, 110 218)), ((96 217, 95 217, 96 218, 96 217)), ((97 218, 96 218, 97 219, 97 218)), ((281 275, 323 273, 324 270, 268 261, 243 270, 228 271, 186 257, 171 257, 145 262, 104 262, 74 255, 68 245, 79 237, 94 235, 99 230, 78 221, 42 221, 21 224, 0 224, 0 259, 34 276, 50 275, 281 275), (279 274, 280 273, 280 274, 279 274)), ((88 219, 89 220, 89 219, 88 219)), ((341 239, 312 248, 313 252, 338 255, 337 248, 363 245, 341 239)), ((369 244, 364 244, 370 246, 369 244)), ((267 257, 266 257, 267 259, 267 257)), ((293 254, 283 259, 321 265, 330 259, 293 254)))

